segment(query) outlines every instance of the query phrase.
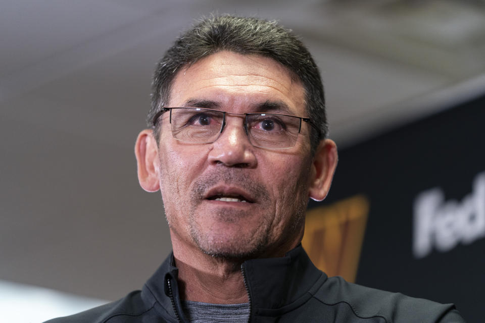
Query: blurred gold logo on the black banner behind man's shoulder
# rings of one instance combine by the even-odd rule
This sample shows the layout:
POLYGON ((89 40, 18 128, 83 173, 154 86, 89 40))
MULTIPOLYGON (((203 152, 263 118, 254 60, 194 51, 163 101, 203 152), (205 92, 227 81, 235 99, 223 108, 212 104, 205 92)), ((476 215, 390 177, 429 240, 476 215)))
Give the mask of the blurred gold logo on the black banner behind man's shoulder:
POLYGON ((357 195, 307 211, 302 245, 328 276, 354 282, 369 213, 369 200, 357 195))

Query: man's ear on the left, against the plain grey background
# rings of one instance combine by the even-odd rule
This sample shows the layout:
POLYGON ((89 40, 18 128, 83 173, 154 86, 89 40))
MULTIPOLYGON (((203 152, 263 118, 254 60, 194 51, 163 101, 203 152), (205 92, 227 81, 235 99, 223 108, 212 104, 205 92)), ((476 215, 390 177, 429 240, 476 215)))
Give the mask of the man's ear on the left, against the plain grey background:
POLYGON ((160 189, 157 141, 152 130, 145 129, 138 134, 135 143, 136 165, 138 167, 138 182, 147 192, 160 189))

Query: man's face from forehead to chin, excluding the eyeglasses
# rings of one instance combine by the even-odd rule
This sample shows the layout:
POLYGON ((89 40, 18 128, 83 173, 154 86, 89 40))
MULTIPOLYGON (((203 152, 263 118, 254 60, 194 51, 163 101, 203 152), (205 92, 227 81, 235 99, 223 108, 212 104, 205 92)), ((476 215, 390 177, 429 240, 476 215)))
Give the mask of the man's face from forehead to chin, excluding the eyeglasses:
MULTIPOLYGON (((280 64, 227 51, 176 75, 168 106, 200 105, 232 113, 271 106, 273 113, 307 116, 304 88, 280 64)), ((174 139, 169 113, 160 123, 158 176, 174 250, 276 256, 300 242, 314 176, 309 125, 294 147, 270 150, 250 143, 241 116, 226 115, 224 131, 208 144, 174 139)))

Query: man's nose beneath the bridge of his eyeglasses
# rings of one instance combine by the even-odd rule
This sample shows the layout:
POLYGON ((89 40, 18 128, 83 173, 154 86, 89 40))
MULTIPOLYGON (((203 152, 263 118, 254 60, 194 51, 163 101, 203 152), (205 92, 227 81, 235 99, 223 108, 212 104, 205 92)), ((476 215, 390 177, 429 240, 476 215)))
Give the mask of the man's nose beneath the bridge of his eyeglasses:
POLYGON ((257 165, 255 147, 249 141, 243 127, 244 116, 226 115, 226 124, 222 133, 212 143, 209 152, 210 164, 228 167, 254 168, 257 165))

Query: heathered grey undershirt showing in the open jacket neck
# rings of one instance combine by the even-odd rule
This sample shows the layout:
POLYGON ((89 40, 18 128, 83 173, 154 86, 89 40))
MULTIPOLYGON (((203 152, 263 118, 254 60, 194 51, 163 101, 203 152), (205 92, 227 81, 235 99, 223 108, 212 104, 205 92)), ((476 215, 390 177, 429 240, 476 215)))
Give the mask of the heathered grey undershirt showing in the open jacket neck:
POLYGON ((210 304, 182 301, 182 309, 190 323, 247 323, 249 303, 210 304))

